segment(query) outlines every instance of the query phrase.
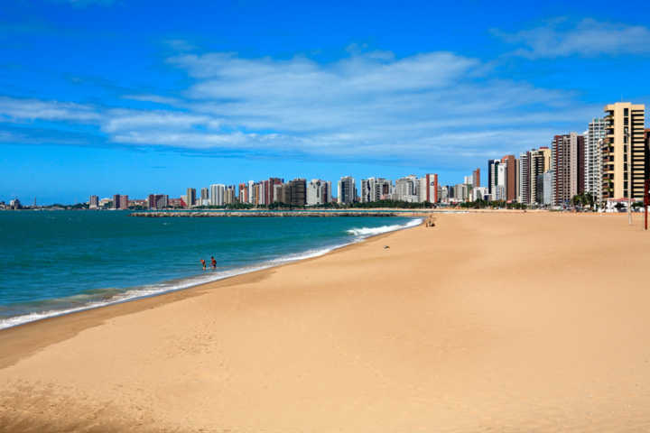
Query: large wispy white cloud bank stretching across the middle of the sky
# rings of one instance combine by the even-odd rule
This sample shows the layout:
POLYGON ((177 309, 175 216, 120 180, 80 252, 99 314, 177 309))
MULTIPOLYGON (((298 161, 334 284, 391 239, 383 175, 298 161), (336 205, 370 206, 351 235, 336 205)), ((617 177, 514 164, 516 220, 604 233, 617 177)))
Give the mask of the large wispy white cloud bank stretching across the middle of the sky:
POLYGON ((453 165, 547 144, 558 127, 592 115, 571 93, 497 79, 455 53, 363 50, 329 64, 178 55, 169 64, 193 78, 181 97, 123 96, 165 109, 1 97, 0 121, 92 124, 107 143, 138 147, 453 165))

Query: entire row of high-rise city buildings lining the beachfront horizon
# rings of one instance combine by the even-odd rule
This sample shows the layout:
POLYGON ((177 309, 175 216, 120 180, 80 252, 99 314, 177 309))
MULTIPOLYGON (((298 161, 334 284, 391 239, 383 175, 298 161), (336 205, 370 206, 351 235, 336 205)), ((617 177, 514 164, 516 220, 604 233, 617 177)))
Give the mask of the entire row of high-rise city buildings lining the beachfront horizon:
POLYGON ((562 207, 575 196, 589 193, 599 204, 643 198, 650 130, 645 129, 645 106, 618 102, 605 106, 604 115, 591 120, 582 134, 559 134, 548 146, 487 161, 487 182, 481 185, 480 169, 462 183, 440 185, 435 173, 405 176, 395 181, 367 178, 359 184, 344 176, 330 180, 281 178, 213 184, 187 189, 181 198, 151 194, 143 200, 115 195, 91 196, 89 207, 223 207, 236 203, 293 207, 329 203, 349 205, 381 200, 428 203, 504 201, 542 207, 562 207))

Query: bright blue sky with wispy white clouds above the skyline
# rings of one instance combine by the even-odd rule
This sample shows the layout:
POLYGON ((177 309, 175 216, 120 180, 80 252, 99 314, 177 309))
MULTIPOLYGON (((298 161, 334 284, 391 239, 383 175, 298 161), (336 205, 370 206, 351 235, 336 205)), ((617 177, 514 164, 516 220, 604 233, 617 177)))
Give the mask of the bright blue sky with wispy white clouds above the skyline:
POLYGON ((646 1, 312 3, 3 2, 0 200, 485 182, 487 159, 650 104, 646 1))

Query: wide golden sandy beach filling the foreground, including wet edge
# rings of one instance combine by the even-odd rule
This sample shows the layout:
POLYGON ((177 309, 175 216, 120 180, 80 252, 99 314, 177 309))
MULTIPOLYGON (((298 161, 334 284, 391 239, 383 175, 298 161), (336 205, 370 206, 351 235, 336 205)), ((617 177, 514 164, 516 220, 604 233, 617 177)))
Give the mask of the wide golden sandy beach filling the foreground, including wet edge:
POLYGON ((641 219, 439 215, 5 329, 0 431, 650 431, 641 219))

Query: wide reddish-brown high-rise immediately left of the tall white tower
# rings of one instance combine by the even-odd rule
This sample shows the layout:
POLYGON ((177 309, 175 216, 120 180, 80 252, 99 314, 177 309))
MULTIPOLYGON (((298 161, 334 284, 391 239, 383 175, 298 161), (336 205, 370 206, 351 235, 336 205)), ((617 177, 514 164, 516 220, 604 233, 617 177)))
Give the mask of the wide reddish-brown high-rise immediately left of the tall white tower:
POLYGON ((555 135, 552 143, 553 198, 555 206, 584 192, 584 136, 555 135))

